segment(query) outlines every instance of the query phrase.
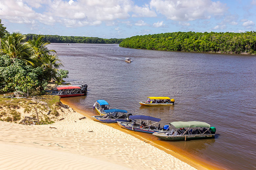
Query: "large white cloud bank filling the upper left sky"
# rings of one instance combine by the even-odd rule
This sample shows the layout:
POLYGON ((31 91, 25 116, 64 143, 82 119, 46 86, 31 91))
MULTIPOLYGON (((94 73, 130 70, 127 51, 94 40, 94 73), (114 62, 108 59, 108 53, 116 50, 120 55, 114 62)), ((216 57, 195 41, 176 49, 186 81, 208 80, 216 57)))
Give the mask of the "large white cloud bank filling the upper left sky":
MULTIPOLYGON (((134 5, 132 0, 6 0, 0 1, 0 17, 14 23, 46 25, 56 23, 67 27, 84 25, 115 25, 115 21, 131 17, 156 17, 149 5, 134 5), (41 8, 35 12, 32 8, 41 8)), ((139 23, 138 23, 139 24, 139 23)), ((137 24, 137 25, 138 25, 137 24)), ((145 23, 141 23, 142 25, 145 23)), ((131 23, 126 23, 131 26, 131 23)))

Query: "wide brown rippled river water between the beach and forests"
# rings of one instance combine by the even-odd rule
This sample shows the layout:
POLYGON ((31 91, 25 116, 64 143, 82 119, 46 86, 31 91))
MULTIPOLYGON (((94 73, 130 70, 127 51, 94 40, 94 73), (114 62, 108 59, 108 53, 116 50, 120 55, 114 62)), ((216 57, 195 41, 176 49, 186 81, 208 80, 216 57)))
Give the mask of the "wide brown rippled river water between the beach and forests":
MULTIPOLYGON (((69 98, 93 113, 98 99, 112 109, 172 121, 203 121, 215 139, 166 142, 223 169, 256 168, 256 56, 141 50, 118 44, 52 43, 67 80, 87 83, 86 96, 69 98), (124 62, 131 57, 133 62, 124 62), (147 96, 169 96, 173 106, 142 107, 147 96)), ((168 145, 168 144, 166 144, 168 145)))

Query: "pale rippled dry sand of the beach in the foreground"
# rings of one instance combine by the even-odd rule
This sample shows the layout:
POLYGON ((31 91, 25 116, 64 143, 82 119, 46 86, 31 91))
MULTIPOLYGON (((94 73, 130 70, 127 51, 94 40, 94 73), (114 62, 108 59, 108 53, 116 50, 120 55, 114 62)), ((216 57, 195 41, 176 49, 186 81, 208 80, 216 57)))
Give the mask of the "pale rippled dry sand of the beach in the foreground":
POLYGON ((61 117, 39 126, 0 121, 0 169, 196 169, 72 109, 61 117))

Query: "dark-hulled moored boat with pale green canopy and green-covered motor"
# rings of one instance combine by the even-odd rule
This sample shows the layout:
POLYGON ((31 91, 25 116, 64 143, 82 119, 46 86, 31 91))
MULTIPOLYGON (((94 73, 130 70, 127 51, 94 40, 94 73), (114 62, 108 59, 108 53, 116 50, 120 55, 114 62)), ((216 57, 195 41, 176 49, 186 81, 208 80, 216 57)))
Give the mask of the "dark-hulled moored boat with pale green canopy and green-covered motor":
POLYGON ((171 122, 168 131, 155 132, 153 135, 164 140, 190 140, 190 139, 206 139, 214 138, 216 128, 210 127, 205 122, 171 122))

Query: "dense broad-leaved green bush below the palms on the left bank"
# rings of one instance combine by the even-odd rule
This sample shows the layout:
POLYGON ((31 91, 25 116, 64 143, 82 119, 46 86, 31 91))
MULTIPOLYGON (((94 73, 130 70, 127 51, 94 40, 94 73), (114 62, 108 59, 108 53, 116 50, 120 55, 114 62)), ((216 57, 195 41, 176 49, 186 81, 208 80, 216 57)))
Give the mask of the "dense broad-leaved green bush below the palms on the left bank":
POLYGON ((48 75, 40 67, 25 65, 19 59, 11 63, 8 56, 0 56, 0 89, 4 92, 21 91, 36 94, 45 89, 48 75))

